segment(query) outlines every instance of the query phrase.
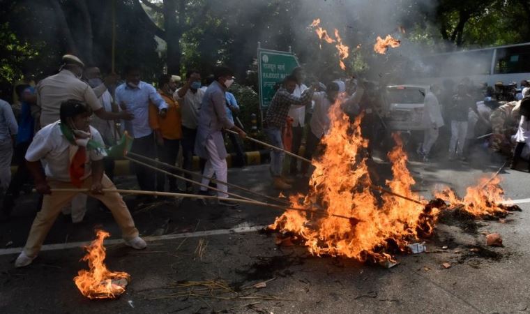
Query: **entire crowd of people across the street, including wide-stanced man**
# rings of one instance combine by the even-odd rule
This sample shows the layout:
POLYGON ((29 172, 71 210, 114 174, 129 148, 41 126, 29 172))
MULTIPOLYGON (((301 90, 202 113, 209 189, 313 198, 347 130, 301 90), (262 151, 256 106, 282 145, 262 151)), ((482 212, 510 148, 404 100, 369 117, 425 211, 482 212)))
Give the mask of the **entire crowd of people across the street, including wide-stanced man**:
MULTIPOLYGON (((234 83, 229 68, 216 67, 204 80, 204 86, 201 73, 188 70, 184 80, 162 74, 153 87, 142 81, 142 71, 136 65, 123 70, 124 81, 119 83, 118 75, 103 77, 97 66, 85 66, 73 55, 63 56, 62 61, 59 73, 38 84, 28 77, 17 82, 13 99, 20 105, 11 106, 0 100, 0 189, 4 194, 1 220, 10 218, 17 197, 29 182, 43 195, 27 244, 15 266, 31 264, 61 211, 71 214, 74 223, 82 221, 88 195, 96 197, 102 207, 112 212, 128 246, 146 247, 126 203, 113 191, 114 159, 107 155, 107 148, 119 142, 125 133, 133 138, 130 153, 146 160, 158 159, 165 165, 158 168, 167 173, 179 174, 172 166, 178 163, 180 151, 181 167, 188 170, 186 192, 209 195, 215 177, 219 204, 237 206, 229 199, 225 184, 228 181, 225 135, 233 144, 239 165, 245 165, 241 139, 246 134, 234 119, 239 105, 227 91, 234 83), (18 108, 16 114, 14 108, 18 108), (197 191, 189 175, 194 156, 201 160, 203 177, 197 191), (12 160, 18 166, 13 178, 12 160), (52 193, 57 188, 70 190, 52 193)), ((271 149, 271 184, 280 190, 292 188, 296 175, 308 177, 310 164, 301 163, 298 158, 284 163, 285 151, 300 155, 301 144, 305 142, 303 156, 311 159, 317 154, 319 142, 330 128, 331 105, 340 101, 342 111, 351 118, 363 112, 361 128, 370 140, 368 157, 372 154, 374 124, 381 117, 374 105, 377 94, 368 90, 365 82, 349 78, 330 80, 325 85, 315 82, 310 87, 304 82, 305 71, 295 68, 280 82, 264 112, 264 133, 268 142, 278 148, 271 149)), ((450 82, 445 82, 443 88, 432 86, 425 93, 425 131, 418 154, 427 161, 440 128, 448 124, 450 160, 464 159, 477 135, 487 135, 494 151, 511 153, 515 146, 512 166, 516 167, 521 158, 530 155, 529 149, 525 150, 530 138, 530 84, 524 81, 521 85, 520 100, 508 102, 496 99, 499 94, 492 88, 485 89, 483 100, 475 101, 481 96, 466 80, 456 87, 450 82)), ((175 177, 149 167, 153 163, 130 165, 141 190, 165 191, 167 185, 169 192, 183 192, 175 177)), ((152 202, 153 198, 139 195, 138 201, 152 202)))

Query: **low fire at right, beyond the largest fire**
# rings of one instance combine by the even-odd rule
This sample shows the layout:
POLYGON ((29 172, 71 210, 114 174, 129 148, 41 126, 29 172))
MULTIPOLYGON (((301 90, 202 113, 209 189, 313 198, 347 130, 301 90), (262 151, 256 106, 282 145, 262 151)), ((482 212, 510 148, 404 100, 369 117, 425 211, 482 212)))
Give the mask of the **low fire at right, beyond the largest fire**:
POLYGON ((506 207, 502 204, 508 202, 503 195, 504 191, 499 186, 501 179, 482 178, 478 180, 476 186, 470 186, 466 190, 463 198, 458 197, 455 191, 450 188, 443 188, 435 191, 434 197, 451 204, 452 207, 460 207, 464 211, 476 217, 499 216, 507 213, 506 207))

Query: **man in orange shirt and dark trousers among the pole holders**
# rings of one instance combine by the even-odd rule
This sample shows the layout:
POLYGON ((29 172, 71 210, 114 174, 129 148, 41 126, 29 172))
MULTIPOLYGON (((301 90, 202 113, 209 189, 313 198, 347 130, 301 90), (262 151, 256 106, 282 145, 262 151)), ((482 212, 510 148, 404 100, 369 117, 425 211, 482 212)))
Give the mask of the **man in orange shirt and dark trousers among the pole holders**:
MULTIPOLYGON (((182 117, 181 106, 173 99, 176 84, 172 75, 164 74, 158 79, 158 94, 162 96, 167 105, 167 114, 160 117, 158 108, 151 104, 149 106, 149 125, 153 128, 156 137, 158 160, 162 163, 175 165, 179 156, 179 145, 182 138, 182 117)), ((174 169, 166 171, 177 173, 174 169)), ((169 181, 169 192, 177 192, 176 178, 167 176, 169 181)), ((156 179, 156 190, 165 190, 165 174, 158 173, 156 179)))

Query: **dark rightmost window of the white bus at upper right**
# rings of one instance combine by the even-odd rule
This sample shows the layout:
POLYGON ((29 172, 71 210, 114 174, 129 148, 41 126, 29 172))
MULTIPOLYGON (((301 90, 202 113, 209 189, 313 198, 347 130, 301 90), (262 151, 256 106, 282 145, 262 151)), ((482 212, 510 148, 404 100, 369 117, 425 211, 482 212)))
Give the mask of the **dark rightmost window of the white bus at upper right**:
POLYGON ((530 72, 530 45, 497 49, 495 74, 530 72))

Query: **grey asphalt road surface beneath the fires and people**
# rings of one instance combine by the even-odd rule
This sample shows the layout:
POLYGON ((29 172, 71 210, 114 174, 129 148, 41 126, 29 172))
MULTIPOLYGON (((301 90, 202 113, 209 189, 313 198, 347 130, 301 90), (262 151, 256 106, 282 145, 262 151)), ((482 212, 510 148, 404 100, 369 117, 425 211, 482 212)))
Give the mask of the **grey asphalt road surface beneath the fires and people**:
MULTIPOLYGON (((448 184, 462 193, 503 163, 480 152, 472 157, 467 163, 411 161, 415 188, 429 191, 448 184)), ((378 170, 385 179, 388 165, 379 160, 378 170)), ((530 197, 527 172, 505 170, 500 176, 507 197, 530 197)), ((265 165, 230 170, 229 181, 278 195, 269 186, 265 165)), ((116 183, 121 188, 135 184, 132 177, 116 183)), ((303 182, 298 188, 303 190, 303 182)), ((422 193, 430 197, 427 191, 422 193)), ((84 223, 73 225, 68 217, 61 217, 50 232, 46 244, 67 248, 43 251, 30 267, 15 269, 14 251, 24 245, 36 212, 36 195, 22 197, 13 220, 0 224, 0 313, 530 311, 528 203, 520 204, 522 211, 510 215, 506 223, 480 222, 476 234, 440 224, 436 237, 426 243, 429 253, 399 255, 398 266, 384 269, 340 257, 314 257, 299 246, 276 246, 273 234, 252 228, 272 223, 280 213, 271 209, 204 207, 190 200, 179 207, 158 202, 145 208, 136 207, 131 196, 126 202, 142 235, 153 236, 146 251, 120 244, 112 216, 91 202, 84 223), (86 267, 79 262, 84 253, 77 242, 93 239, 96 225, 116 239, 107 244, 109 269, 127 271, 132 277, 126 293, 112 301, 85 299, 73 283, 77 271, 86 267), (481 232, 499 232, 504 247, 483 248, 481 232), (480 252, 469 251, 475 246, 480 252), (444 269, 445 262, 451 267, 444 269), (257 283, 261 284, 253 287, 257 283)))

